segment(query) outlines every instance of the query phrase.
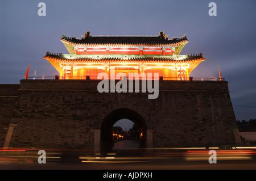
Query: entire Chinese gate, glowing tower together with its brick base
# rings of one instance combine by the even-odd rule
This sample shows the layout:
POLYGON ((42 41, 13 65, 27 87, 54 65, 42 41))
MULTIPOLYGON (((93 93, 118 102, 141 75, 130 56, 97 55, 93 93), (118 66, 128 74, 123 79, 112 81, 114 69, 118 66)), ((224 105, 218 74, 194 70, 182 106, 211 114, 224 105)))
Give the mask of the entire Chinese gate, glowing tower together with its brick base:
MULTIPOLYGON (((241 144, 228 82, 195 81, 203 55, 180 55, 187 37, 62 36, 70 54, 46 53, 56 79, 0 85, 0 143, 9 148, 112 149, 112 126, 137 124, 141 148, 241 144), (99 73, 158 73, 159 96, 97 91, 99 73), (89 76, 89 77, 88 77, 89 76)), ((154 77, 154 76, 153 76, 154 77)), ((116 81, 116 80, 115 80, 116 81)))

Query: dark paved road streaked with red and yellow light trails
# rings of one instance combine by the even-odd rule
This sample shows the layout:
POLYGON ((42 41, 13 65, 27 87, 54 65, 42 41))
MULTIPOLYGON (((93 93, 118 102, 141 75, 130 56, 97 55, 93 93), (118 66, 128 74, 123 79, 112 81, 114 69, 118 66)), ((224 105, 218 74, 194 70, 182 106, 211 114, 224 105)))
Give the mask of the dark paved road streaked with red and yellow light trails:
POLYGON ((120 141, 114 145, 112 154, 80 155, 79 153, 72 157, 63 157, 64 154, 61 153, 49 155, 46 163, 42 164, 38 163, 37 154, 34 157, 1 155, 0 170, 256 170, 255 151, 220 150, 219 153, 228 153, 228 155, 221 156, 218 153, 217 163, 210 164, 208 150, 199 150, 199 152, 191 150, 191 153, 196 154, 188 154, 189 150, 183 151, 183 154, 175 150, 162 150, 158 154, 145 156, 134 149, 137 146, 138 142, 135 141, 120 141), (199 154, 202 153, 204 155, 200 156, 199 154))

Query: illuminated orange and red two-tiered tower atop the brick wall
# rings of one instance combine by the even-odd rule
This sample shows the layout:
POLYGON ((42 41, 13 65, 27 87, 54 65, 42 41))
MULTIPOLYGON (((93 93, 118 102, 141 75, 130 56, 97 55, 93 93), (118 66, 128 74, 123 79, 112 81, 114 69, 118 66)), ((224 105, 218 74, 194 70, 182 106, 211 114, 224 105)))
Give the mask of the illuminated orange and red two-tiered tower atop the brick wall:
POLYGON ((81 39, 63 35, 60 39, 70 54, 46 53, 60 73, 60 79, 97 79, 99 73, 158 73, 170 80, 188 80, 189 73, 204 61, 203 54, 180 55, 187 37, 168 39, 159 36, 91 36, 81 39))

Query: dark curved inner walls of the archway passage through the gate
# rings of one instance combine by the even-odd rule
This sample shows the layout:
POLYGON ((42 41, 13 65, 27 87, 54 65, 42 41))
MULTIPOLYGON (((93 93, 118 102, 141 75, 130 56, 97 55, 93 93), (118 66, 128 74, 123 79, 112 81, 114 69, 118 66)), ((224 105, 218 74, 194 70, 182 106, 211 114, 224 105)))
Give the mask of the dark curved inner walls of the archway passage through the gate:
POLYGON ((112 127, 113 125, 121 119, 129 119, 137 125, 140 134, 139 147, 143 148, 146 146, 146 125, 143 118, 135 111, 129 110, 127 108, 120 108, 109 113, 108 116, 102 121, 101 125, 101 152, 109 153, 113 148, 112 140, 112 127))

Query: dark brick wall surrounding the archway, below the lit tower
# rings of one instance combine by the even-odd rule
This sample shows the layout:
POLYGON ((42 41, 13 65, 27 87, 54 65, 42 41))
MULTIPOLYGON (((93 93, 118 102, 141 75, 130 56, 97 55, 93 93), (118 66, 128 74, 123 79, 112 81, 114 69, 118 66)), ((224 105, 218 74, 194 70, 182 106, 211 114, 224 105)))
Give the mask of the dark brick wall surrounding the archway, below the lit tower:
POLYGON ((101 129, 102 120, 118 108, 143 117, 155 148, 236 144, 226 81, 159 81, 157 99, 148 99, 148 92, 99 93, 98 82, 20 81, 15 104, 5 99, 8 106, 1 110, 0 146, 7 125, 15 123, 11 147, 93 150, 93 129, 101 129))

